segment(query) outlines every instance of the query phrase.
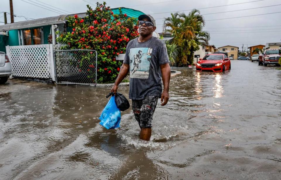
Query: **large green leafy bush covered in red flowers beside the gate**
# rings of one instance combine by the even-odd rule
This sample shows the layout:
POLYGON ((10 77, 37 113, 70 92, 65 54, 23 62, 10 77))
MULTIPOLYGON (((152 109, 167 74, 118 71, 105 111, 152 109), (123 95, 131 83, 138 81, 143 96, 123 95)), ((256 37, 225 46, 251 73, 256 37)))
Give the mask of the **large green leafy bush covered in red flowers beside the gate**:
MULTIPOLYGON (((77 15, 68 18, 68 26, 72 32, 59 33, 57 41, 66 44, 62 49, 91 49, 97 51, 97 82, 114 82, 120 71, 121 62, 116 61, 116 56, 126 51, 128 42, 138 37, 137 18, 128 18, 123 14, 113 14, 109 6, 97 3, 95 9, 87 5, 85 18, 77 15)), ((86 53, 87 54, 87 53, 86 53)), ((83 57, 75 64, 80 71, 89 71, 95 66, 89 57, 83 57), (87 62, 87 63, 86 63, 87 62), (85 64, 87 64, 85 67, 85 64)), ((95 71, 92 71, 94 75, 95 71)), ((92 76, 89 76, 92 77, 92 76)))

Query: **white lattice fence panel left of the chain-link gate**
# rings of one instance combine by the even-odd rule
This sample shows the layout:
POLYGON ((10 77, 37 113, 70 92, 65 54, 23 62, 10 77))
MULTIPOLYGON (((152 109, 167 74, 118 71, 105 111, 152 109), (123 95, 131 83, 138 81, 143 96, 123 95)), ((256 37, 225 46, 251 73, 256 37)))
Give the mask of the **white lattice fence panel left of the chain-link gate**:
POLYGON ((12 65, 12 76, 51 78, 50 44, 6 46, 12 65))

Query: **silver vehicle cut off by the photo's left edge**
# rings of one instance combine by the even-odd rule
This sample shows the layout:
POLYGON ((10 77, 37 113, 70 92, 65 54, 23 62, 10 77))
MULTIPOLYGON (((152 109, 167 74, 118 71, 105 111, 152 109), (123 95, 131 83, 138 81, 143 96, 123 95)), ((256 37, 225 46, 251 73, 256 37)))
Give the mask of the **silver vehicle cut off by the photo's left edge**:
POLYGON ((0 84, 7 82, 12 74, 12 67, 7 54, 0 52, 0 84))

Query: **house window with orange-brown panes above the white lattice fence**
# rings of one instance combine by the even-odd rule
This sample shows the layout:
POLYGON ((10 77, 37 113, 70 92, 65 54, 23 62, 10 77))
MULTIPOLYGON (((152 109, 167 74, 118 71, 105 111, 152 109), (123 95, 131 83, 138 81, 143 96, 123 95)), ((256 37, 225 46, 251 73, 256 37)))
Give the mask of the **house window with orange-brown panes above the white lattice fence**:
POLYGON ((42 28, 35 28, 29 30, 23 30, 24 45, 42 44, 43 30, 42 28))

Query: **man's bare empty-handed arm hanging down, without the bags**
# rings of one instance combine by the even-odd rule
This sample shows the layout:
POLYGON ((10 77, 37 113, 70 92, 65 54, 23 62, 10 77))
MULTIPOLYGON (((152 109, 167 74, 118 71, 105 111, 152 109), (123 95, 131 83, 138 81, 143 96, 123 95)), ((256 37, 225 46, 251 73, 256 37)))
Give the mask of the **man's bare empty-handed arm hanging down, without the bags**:
POLYGON ((161 95, 161 106, 165 106, 169 100, 169 85, 171 78, 171 68, 169 63, 160 65, 164 90, 161 95), (163 101, 164 100, 164 101, 163 101))

